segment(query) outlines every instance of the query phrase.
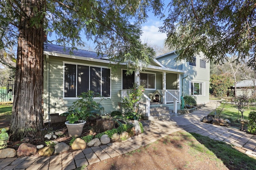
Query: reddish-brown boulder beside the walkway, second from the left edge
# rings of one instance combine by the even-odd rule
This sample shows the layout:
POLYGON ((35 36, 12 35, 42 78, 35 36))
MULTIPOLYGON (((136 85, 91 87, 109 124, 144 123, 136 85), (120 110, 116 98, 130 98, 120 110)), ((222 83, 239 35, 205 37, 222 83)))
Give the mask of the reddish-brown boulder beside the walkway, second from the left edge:
POLYGON ((36 146, 30 143, 22 143, 17 150, 17 156, 30 156, 36 154, 36 152, 36 146))

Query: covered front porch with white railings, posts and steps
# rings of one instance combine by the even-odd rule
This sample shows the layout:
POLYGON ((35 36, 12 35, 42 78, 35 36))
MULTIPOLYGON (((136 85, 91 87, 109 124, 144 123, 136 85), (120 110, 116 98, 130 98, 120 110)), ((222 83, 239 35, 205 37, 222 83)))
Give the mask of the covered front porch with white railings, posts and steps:
MULTIPOLYGON (((150 107, 170 107, 173 113, 177 113, 178 106, 180 106, 184 71, 171 68, 165 69, 166 71, 156 71, 156 69, 151 68, 144 72, 137 71, 133 74, 134 82, 142 85, 145 84, 146 86, 142 100, 140 101, 140 107, 145 107, 144 115, 147 117, 150 117, 150 107), (141 76, 145 73, 148 74, 148 79, 144 78, 144 75, 143 77, 141 76), (152 80, 150 80, 150 78, 152 78, 152 80)), ((128 82, 124 80, 124 77, 125 75, 123 74, 123 83, 128 82)), ((133 76, 129 76, 129 78, 133 79, 133 76)), ((122 86, 121 90, 121 102, 125 97, 128 97, 130 92, 129 88, 124 89, 123 87, 124 86, 122 86)))

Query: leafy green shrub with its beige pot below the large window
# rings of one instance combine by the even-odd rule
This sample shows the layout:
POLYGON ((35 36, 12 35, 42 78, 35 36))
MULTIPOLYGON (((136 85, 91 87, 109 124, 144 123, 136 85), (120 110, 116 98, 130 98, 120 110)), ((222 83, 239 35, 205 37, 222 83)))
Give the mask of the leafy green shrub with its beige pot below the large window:
POLYGON ((65 124, 70 137, 80 136, 86 120, 89 117, 100 115, 104 111, 104 107, 93 100, 95 96, 98 96, 98 94, 90 90, 88 92, 82 92, 78 96, 79 99, 73 102, 73 105, 68 108, 68 112, 61 114, 67 117, 65 124))

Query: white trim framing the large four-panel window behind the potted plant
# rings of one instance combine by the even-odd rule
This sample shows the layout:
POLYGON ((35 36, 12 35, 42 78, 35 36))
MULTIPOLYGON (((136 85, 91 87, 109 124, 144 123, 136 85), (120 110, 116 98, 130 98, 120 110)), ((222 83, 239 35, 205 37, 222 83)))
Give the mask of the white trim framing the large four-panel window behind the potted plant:
MULTIPOLYGON (((83 63, 75 63, 75 62, 68 62, 68 61, 63 61, 63 74, 62 74, 62 79, 63 79, 63 83, 62 83, 62 96, 63 99, 79 99, 77 97, 77 83, 76 83, 76 97, 64 97, 65 96, 65 64, 74 64, 76 65, 76 82, 77 82, 77 65, 81 65, 81 66, 92 66, 92 67, 98 67, 101 68, 101 77, 102 77, 102 68, 108 68, 110 69, 110 97, 103 97, 105 99, 111 99, 111 85, 112 85, 112 75, 111 75, 111 68, 109 68, 108 66, 97 66, 97 65, 92 65, 92 64, 83 64, 83 63)), ((89 69, 89 80, 90 80, 90 69, 89 69)), ((100 83, 102 84, 102 79, 100 80, 100 83)), ((90 81, 89 81, 89 88, 90 88, 90 81)), ((100 92, 102 92, 102 86, 100 87, 100 92)), ((100 97, 94 97, 94 99, 101 99, 100 97)))

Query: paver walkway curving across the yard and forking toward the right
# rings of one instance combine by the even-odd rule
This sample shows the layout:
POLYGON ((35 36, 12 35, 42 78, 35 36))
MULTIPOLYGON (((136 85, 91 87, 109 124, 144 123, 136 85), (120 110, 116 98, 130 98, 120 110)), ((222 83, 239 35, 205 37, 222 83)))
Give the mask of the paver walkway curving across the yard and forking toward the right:
POLYGON ((244 152, 256 156, 256 136, 236 129, 200 122, 208 115, 217 102, 210 102, 205 107, 186 115, 178 115, 165 121, 143 121, 144 133, 126 141, 109 143, 84 150, 76 150, 50 157, 25 156, 20 158, 0 159, 1 170, 71 170, 83 165, 93 164, 148 145, 173 132, 185 130, 208 136, 218 141, 232 144, 244 152))

